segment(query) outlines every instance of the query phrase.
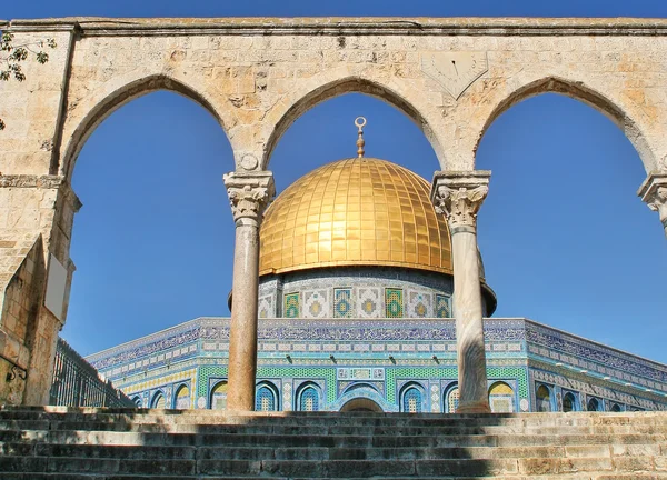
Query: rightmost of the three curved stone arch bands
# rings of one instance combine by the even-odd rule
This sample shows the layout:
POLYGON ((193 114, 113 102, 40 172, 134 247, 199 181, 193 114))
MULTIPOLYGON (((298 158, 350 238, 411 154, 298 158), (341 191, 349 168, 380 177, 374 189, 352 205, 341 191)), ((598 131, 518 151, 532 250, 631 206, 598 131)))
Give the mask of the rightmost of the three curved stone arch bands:
POLYGON ((496 121, 500 114, 509 110, 515 104, 527 100, 531 97, 536 97, 542 93, 559 93, 566 97, 570 97, 589 107, 593 107, 597 111, 608 117, 620 130, 625 133, 628 140, 637 150, 644 168, 647 172, 655 170, 657 160, 654 150, 648 143, 645 133, 640 129, 637 120, 625 111, 619 104, 617 104, 609 97, 595 90, 594 88, 585 84, 581 81, 567 80, 559 77, 545 77, 539 80, 530 81, 516 88, 502 100, 496 103, 490 114, 484 120, 484 124, 479 130, 474 146, 474 151, 477 152, 477 148, 481 142, 488 128, 496 121))

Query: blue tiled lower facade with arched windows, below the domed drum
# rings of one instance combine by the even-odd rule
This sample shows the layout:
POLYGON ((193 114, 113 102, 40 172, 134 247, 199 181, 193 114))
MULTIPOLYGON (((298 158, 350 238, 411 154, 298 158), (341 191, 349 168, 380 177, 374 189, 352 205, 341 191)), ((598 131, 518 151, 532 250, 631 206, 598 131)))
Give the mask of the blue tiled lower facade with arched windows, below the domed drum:
MULTIPOLYGON (((335 298, 332 296, 332 298, 335 298)), ((526 319, 486 319, 491 407, 512 411, 665 410, 667 367, 526 319), (538 396, 537 392, 540 392, 538 396), (494 392, 499 392, 495 394, 494 392)), ((162 396, 223 406, 229 319, 201 318, 88 360, 142 407, 162 396)), ((260 319, 260 408, 449 412, 457 402, 451 319, 260 319)))

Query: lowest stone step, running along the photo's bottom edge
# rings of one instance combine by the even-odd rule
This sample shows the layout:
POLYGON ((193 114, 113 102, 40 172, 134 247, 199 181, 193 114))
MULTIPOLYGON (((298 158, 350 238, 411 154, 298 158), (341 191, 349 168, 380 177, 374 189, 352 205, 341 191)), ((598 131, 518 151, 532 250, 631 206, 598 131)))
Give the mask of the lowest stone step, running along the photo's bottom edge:
MULTIPOLYGON (((651 459, 653 460, 653 459, 651 459)), ((655 471, 646 460, 636 467, 655 471)), ((99 458, 1 457, 0 471, 23 473, 99 473, 143 476, 270 476, 351 478, 404 476, 417 478, 487 477, 616 472, 627 464, 610 458, 550 459, 417 459, 417 460, 136 460, 99 458)))

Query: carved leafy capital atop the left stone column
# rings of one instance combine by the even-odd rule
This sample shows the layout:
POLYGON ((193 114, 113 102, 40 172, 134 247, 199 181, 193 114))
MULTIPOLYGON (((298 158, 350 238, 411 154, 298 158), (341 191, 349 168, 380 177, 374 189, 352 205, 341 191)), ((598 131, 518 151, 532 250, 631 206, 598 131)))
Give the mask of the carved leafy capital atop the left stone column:
POLYGON ((259 172, 231 172, 222 176, 233 221, 238 224, 252 224, 258 227, 265 209, 276 194, 273 173, 259 172))

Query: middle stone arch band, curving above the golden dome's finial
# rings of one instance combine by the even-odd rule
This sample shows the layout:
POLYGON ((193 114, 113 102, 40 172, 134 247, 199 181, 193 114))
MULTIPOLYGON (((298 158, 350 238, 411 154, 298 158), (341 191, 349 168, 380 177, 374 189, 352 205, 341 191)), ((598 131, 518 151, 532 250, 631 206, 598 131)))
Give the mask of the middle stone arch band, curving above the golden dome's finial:
POLYGON ((419 104, 419 99, 409 98, 405 94, 407 86, 398 83, 397 79, 391 82, 379 78, 370 78, 368 74, 350 76, 347 69, 329 71, 312 79, 306 86, 297 88, 288 99, 279 102, 277 109, 271 112, 270 118, 277 119, 270 133, 266 136, 266 144, 260 166, 268 169, 271 154, 282 134, 289 127, 308 110, 318 104, 339 97, 345 93, 364 93, 389 103, 405 113, 424 132, 434 148, 440 166, 445 164, 444 148, 438 137, 439 128, 436 116, 427 113, 426 104, 419 104), (312 87, 316 86, 316 87, 312 87))

